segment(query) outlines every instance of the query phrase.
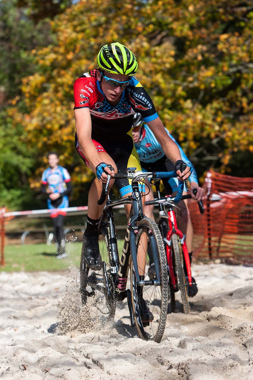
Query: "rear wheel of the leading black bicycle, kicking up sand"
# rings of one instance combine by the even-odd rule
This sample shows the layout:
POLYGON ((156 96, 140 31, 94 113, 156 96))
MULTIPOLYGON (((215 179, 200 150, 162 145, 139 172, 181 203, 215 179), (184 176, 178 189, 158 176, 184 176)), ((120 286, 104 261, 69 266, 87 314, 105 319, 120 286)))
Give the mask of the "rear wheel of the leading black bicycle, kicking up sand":
POLYGON ((116 299, 115 287, 111 277, 109 262, 109 237, 108 230, 105 226, 100 231, 100 255, 102 261, 106 264, 106 275, 109 288, 106 285, 104 268, 99 271, 93 271, 88 268, 83 260, 84 245, 82 245, 81 264, 80 264, 80 292, 82 304, 86 304, 87 297, 93 297, 93 306, 98 309, 101 314, 101 322, 103 324, 113 320, 115 315, 116 299))

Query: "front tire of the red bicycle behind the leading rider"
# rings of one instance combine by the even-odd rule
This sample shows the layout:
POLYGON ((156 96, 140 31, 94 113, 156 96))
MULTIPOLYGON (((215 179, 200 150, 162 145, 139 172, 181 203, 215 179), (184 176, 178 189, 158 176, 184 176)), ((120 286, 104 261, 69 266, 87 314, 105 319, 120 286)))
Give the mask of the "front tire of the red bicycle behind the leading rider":
POLYGON ((190 306, 189 306, 189 299, 188 299, 188 292, 187 292, 187 281, 185 278, 185 273, 182 268, 183 263, 183 252, 182 247, 179 241, 179 238, 176 233, 171 235, 171 242, 172 242, 172 255, 174 255, 175 263, 176 263, 176 272, 177 272, 177 285, 181 293, 181 299, 183 303, 183 312, 189 313, 190 312, 190 306))

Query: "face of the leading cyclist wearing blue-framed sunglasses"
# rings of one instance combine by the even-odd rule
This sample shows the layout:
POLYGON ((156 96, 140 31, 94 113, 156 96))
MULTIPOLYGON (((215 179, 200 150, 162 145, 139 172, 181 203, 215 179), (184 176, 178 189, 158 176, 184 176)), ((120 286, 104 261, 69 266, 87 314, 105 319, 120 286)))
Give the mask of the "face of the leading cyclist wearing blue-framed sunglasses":
MULTIPOLYGON (((120 101, 121 94, 124 91, 124 88, 120 86, 118 87, 110 86, 106 82, 106 80, 102 78, 100 70, 96 71, 96 75, 97 75, 98 81, 100 81, 101 90, 104 92, 104 95, 106 96, 106 98, 111 102, 116 102, 115 104, 117 104, 117 101, 120 101)), ((107 72, 104 72, 104 75, 106 75, 107 78, 120 81, 120 82, 125 82, 129 80, 128 75, 111 74, 107 72)))

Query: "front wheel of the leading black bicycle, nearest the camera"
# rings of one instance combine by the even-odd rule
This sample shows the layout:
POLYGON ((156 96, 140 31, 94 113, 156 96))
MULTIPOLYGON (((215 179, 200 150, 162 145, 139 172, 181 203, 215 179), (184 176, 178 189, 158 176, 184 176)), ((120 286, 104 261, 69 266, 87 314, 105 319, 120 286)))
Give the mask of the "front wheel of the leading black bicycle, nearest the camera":
POLYGON ((138 285, 133 260, 131 260, 130 279, 134 321, 142 339, 159 343, 166 325, 169 291, 164 244, 154 220, 145 217, 136 228, 138 229, 136 235, 138 272, 144 285, 138 285), (153 268, 150 272, 152 264, 153 268))

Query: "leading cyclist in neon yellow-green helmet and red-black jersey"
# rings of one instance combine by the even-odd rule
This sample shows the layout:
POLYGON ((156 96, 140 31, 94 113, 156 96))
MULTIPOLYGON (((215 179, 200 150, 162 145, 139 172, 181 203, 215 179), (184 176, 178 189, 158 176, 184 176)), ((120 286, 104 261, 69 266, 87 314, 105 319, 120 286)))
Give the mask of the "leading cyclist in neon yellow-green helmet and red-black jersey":
MULTIPOLYGON (((178 179, 190 176, 188 166, 180 171, 183 161, 179 148, 164 130, 152 99, 135 77, 138 63, 133 52, 119 42, 106 44, 98 53, 97 63, 98 68, 82 74, 74 83, 75 147, 84 163, 96 174, 89 190, 87 228, 83 238, 84 261, 93 270, 102 267, 97 230, 104 208, 104 204, 98 206, 97 203, 102 183, 106 182, 107 173, 113 177, 114 173, 125 172, 129 167, 141 170, 131 131, 135 113, 141 114, 164 153, 174 163, 178 179)), ((132 193, 128 179, 117 179, 115 184, 122 197, 132 193)), ((130 205, 127 206, 129 214, 130 205)), ((145 320, 153 317, 145 305, 142 311, 145 320)))

